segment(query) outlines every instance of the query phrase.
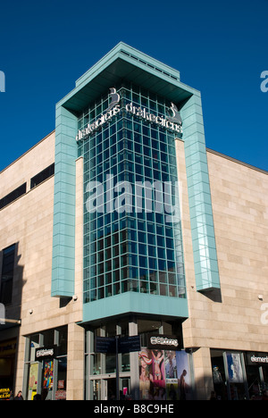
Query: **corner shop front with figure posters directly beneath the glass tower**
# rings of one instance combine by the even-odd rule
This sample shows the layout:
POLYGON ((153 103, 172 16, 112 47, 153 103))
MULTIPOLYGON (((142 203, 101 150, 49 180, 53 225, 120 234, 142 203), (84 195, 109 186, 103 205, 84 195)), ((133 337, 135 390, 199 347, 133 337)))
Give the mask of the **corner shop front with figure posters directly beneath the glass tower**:
POLYGON ((193 397, 191 355, 181 349, 181 323, 122 318, 86 328, 86 397, 116 399, 116 355, 96 353, 96 337, 138 335, 140 349, 119 354, 120 398, 188 400, 193 397))

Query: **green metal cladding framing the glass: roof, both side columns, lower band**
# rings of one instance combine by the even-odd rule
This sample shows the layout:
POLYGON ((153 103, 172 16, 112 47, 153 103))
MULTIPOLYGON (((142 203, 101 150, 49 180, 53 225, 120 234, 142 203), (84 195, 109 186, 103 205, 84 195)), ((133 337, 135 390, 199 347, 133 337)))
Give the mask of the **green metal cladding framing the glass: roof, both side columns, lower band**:
MULTIPOLYGON (((173 103, 183 104, 180 114, 184 131, 182 139, 185 142, 197 291, 220 288, 200 94, 180 82, 179 71, 172 70, 163 63, 120 43, 87 71, 77 81, 76 88, 56 107, 52 296, 71 297, 74 293, 75 160, 78 156, 75 140, 78 120, 75 114, 80 113, 90 101, 96 100, 97 96, 104 94, 104 91, 108 91, 108 88, 113 87, 113 84, 124 76, 133 78, 133 81, 135 79, 134 82, 140 83, 144 88, 154 88, 157 94, 165 96, 173 103)), ((152 306, 151 301, 154 300, 156 303, 156 299, 159 298, 157 304, 158 302, 160 304, 160 299, 164 299, 164 297, 147 295, 146 301, 146 296, 141 294, 130 296, 130 293, 116 297, 122 303, 118 308, 121 312, 127 309, 128 303, 133 305, 133 309, 141 310, 139 303, 141 300, 152 306)), ((108 298, 105 299, 109 306, 115 297, 110 299, 110 301, 108 298)), ((169 297, 166 299, 163 302, 164 311, 167 313, 171 312, 171 309, 176 310, 174 305, 176 300, 171 300, 169 297), (171 300, 171 307, 167 303, 168 300, 171 300)), ((96 317, 97 314, 93 313, 94 306, 97 311, 104 307, 104 303, 104 301, 96 301, 84 305, 85 313, 88 313, 87 318, 90 315, 96 317)), ((179 303, 187 305, 187 300, 180 300, 179 303)), ((111 312, 115 309, 112 305, 109 308, 111 312)), ((155 309, 161 314, 160 308, 155 309)), ((156 311, 154 310, 155 313, 156 311)), ((186 314, 186 310, 184 314, 182 311, 178 310, 178 316, 186 314)), ((107 316, 109 316, 108 311, 107 316)))

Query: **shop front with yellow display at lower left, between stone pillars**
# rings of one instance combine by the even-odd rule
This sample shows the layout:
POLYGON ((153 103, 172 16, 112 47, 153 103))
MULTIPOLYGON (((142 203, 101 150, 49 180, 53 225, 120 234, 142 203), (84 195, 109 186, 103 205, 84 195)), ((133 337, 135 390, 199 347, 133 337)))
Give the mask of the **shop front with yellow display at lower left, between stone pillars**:
POLYGON ((25 399, 37 395, 41 400, 66 399, 67 330, 46 330, 26 338, 25 399))

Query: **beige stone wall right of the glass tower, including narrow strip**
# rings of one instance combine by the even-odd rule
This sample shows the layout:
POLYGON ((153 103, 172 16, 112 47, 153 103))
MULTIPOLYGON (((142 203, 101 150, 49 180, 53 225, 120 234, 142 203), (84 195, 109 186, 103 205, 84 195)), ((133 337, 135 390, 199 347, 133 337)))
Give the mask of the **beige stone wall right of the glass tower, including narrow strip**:
POLYGON ((268 353, 268 325, 262 323, 262 306, 268 303, 268 174, 207 152, 221 292, 201 294, 196 291, 184 144, 177 141, 176 146, 189 310, 184 344, 200 347, 194 355, 196 372, 205 364, 203 374, 209 377, 202 360, 207 347, 268 353))

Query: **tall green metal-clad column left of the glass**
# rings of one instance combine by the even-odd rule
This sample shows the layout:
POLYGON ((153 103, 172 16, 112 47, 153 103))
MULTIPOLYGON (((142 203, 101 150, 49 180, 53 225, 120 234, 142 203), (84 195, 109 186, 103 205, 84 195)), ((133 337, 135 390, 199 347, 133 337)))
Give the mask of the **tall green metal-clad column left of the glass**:
POLYGON ((55 128, 53 297, 72 297, 74 294, 76 132, 77 118, 63 106, 58 106, 55 128))

